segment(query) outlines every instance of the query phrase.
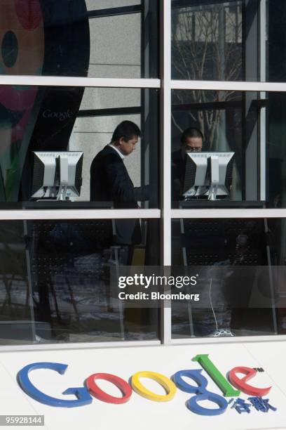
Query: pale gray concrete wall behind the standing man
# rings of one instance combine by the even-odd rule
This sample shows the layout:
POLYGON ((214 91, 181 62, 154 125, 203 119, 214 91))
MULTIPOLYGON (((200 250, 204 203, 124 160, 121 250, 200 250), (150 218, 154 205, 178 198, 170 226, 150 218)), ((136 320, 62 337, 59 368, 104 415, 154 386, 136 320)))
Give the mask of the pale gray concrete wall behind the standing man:
MULTIPOLYGON (((139 4, 139 0, 87 0, 88 11, 139 4)), ((119 15, 91 18, 90 66, 88 77, 141 77, 141 15, 119 15)), ((133 107, 141 105, 139 89, 86 88, 81 110, 133 107)), ((116 126, 125 119, 140 126, 140 115, 114 117, 83 117, 76 119, 69 141, 69 150, 83 151, 83 187, 77 200, 90 199, 90 164, 110 142, 116 126)), ((125 158, 125 166, 135 186, 140 185, 140 143, 125 158)), ((102 185, 104 186, 104 185, 102 185)))

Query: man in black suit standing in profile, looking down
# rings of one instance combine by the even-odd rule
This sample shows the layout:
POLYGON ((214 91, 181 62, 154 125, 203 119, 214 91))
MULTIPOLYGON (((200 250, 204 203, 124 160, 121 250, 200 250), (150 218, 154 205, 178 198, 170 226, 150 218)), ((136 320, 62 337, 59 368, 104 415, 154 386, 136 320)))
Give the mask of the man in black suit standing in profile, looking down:
MULTIPOLYGON (((114 202, 115 209, 136 209, 137 202, 149 200, 149 185, 135 187, 124 165, 124 158, 135 150, 141 136, 139 127, 123 121, 114 130, 111 143, 93 159, 90 167, 90 201, 114 202)), ((129 266, 132 248, 141 243, 139 220, 116 220, 116 244, 123 246, 123 263, 129 266)))

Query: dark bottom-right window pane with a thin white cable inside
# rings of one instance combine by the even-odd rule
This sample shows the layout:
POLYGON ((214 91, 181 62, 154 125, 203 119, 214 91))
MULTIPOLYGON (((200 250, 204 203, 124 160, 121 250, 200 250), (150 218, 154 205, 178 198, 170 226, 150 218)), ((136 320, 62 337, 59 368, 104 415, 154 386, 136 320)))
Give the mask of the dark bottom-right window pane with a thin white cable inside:
POLYGON ((196 275, 200 301, 172 302, 172 337, 285 333, 285 225, 174 219, 172 266, 196 275))

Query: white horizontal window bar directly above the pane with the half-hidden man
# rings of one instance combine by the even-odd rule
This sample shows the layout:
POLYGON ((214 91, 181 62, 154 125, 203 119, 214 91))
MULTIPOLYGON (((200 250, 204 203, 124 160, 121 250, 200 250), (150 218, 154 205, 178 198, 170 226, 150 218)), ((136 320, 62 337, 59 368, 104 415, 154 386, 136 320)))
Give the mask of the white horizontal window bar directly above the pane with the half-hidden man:
POLYGON ((286 82, 171 81, 172 89, 211 91, 286 91, 286 82))

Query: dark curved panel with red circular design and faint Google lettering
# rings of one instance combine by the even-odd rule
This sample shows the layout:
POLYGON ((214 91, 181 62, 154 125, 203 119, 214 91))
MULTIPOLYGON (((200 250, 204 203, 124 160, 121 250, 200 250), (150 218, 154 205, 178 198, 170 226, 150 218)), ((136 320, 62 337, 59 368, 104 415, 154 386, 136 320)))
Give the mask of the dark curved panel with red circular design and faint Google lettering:
MULTIPOLYGON (((84 1, 77 1, 72 11, 63 1, 50 6, 39 0, 3 1, 1 8, 6 11, 0 34, 3 74, 86 76, 90 35, 84 1)), ((1 91, 4 200, 29 199, 32 150, 67 149, 82 93, 80 88, 36 86, 1 91), (64 112, 69 115, 59 117, 64 112)))

